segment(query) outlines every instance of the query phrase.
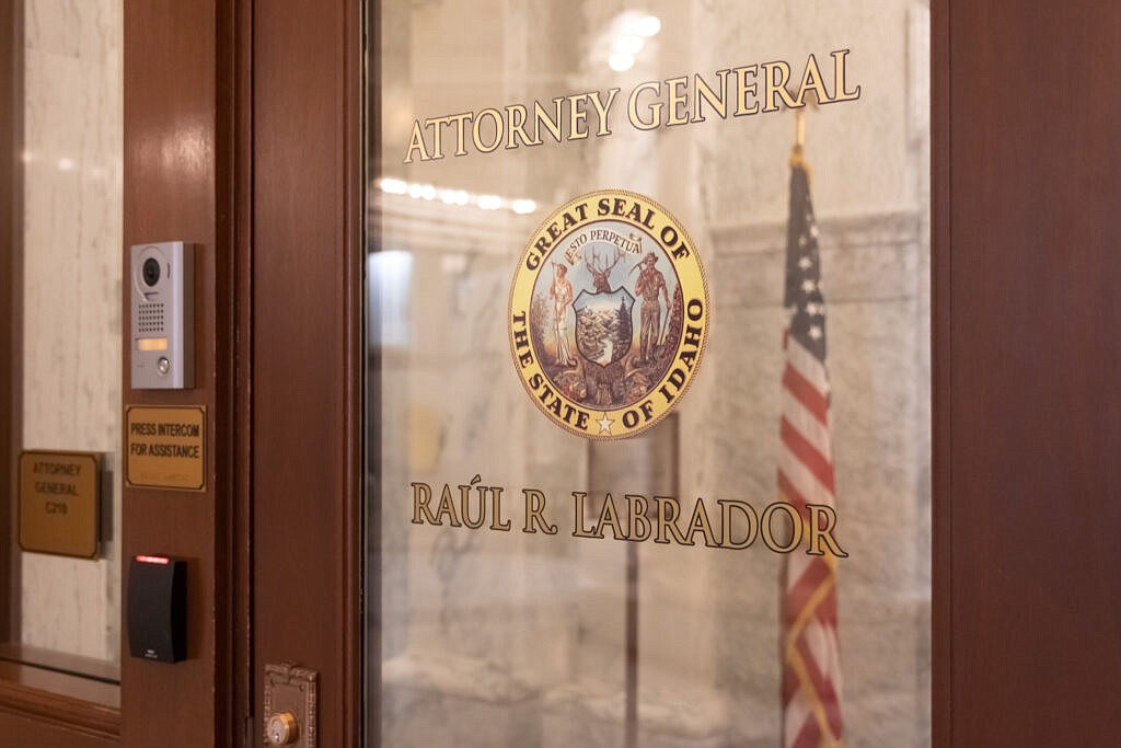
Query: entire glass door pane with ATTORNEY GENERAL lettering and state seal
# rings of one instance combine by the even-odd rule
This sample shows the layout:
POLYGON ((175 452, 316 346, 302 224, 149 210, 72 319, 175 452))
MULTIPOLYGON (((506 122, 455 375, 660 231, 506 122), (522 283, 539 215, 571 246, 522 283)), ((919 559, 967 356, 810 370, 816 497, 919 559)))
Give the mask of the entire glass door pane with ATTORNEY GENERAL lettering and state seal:
POLYGON ((927 4, 369 15, 368 745, 929 745, 927 4))

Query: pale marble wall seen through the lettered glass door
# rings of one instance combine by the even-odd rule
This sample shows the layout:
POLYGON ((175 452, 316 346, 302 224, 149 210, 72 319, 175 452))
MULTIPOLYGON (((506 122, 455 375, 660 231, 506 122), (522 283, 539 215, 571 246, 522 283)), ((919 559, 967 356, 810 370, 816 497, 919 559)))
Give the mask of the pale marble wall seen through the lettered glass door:
MULTIPOLYGON (((639 745, 778 745, 780 558, 703 547, 415 525, 410 482, 475 474, 550 497, 776 495, 789 112, 402 165, 414 117, 775 58, 852 49, 861 100, 806 116, 833 385, 843 713, 852 747, 929 745, 927 9, 909 0, 650 0, 663 31, 632 70, 595 56, 619 1, 382 6, 386 192, 378 248, 408 258, 371 289, 377 349, 383 664, 393 746, 621 746, 637 646, 639 745), (590 446, 537 412, 512 371, 511 277, 545 213, 596 188, 645 192, 704 258, 712 336, 677 417, 590 446), (430 190, 429 190, 430 188, 430 190), (442 202, 498 195, 504 207, 442 202), (526 214, 510 198, 531 198, 526 214), (402 284, 408 294, 402 301, 402 284), (386 306, 382 306, 385 304, 386 306), (390 308, 390 306, 392 308, 390 308), (389 318, 391 317, 391 318, 389 318), (628 587, 628 567, 638 569, 628 587), (627 636, 637 601, 637 639, 627 636)), ((567 506, 567 505, 566 505, 567 506)), ((379 630, 379 629, 373 629, 379 630)))

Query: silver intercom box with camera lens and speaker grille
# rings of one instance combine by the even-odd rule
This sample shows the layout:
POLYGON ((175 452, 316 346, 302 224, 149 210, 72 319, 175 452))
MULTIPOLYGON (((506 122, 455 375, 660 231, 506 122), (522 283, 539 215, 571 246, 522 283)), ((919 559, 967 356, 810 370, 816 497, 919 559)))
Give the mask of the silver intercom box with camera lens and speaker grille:
POLYGON ((132 388, 195 385, 194 247, 132 247, 132 388))

